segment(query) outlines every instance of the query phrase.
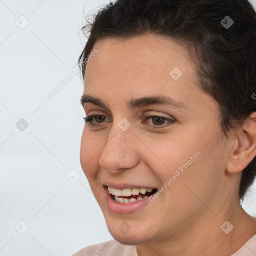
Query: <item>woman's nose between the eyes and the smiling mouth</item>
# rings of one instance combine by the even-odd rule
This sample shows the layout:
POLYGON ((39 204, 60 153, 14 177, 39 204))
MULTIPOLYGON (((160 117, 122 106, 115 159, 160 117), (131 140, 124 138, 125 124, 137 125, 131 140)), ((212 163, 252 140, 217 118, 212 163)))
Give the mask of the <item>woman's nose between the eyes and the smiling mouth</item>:
POLYGON ((134 168, 139 162, 138 143, 131 128, 123 131, 113 125, 99 158, 100 166, 111 173, 134 168))

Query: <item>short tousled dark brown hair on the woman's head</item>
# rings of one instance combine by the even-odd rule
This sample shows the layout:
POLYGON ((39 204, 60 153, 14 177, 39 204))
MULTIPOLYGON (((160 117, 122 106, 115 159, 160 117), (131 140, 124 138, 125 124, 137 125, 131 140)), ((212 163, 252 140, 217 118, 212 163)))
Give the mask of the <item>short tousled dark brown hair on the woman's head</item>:
MULTIPOLYGON (((226 137, 256 111, 256 13, 248 0, 117 0, 87 22, 79 57, 83 78, 96 40, 165 35, 191 52, 198 85, 218 103, 226 137)), ((242 172, 241 200, 255 176, 256 157, 242 172)))

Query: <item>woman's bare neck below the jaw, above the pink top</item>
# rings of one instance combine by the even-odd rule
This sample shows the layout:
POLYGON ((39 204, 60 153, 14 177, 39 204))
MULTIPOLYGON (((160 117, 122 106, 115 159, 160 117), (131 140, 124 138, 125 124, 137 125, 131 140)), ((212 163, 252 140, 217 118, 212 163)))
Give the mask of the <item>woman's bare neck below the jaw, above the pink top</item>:
POLYGON ((256 219, 249 216, 238 204, 235 208, 220 210, 216 214, 206 210, 203 216, 186 223, 178 232, 168 236, 163 234, 161 239, 138 244, 137 253, 138 256, 148 255, 148 252, 161 256, 230 256, 254 234, 256 219), (224 224, 227 220, 231 224, 224 224))

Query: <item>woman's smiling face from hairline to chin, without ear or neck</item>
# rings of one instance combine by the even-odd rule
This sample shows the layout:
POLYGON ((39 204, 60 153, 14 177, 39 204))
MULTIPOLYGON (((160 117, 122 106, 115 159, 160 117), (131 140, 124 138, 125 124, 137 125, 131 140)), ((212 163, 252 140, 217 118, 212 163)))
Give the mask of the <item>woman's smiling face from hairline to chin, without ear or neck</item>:
POLYGON ((207 225, 233 186, 225 172, 231 147, 188 54, 156 35, 99 40, 95 48, 84 94, 103 104, 84 98, 86 115, 98 116, 84 127, 80 161, 110 233, 138 244, 180 235, 198 219, 207 225), (145 97, 169 102, 138 100, 145 97))

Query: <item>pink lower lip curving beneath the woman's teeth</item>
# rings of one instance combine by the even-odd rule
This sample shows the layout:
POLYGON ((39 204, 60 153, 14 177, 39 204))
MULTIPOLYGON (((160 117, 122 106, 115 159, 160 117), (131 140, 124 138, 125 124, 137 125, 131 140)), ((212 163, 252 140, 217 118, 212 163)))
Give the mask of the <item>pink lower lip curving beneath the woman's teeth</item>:
MULTIPOLYGON (((125 188, 121 188, 121 189, 125 189, 125 188)), ((108 192, 107 186, 103 186, 103 190, 105 193, 105 200, 108 208, 110 209, 111 212, 116 214, 131 214, 131 213, 137 212, 142 208, 144 208, 150 202, 149 200, 150 197, 153 196, 153 195, 150 195, 146 199, 135 201, 135 202, 121 203, 121 202, 116 202, 111 198, 111 195, 108 192)))

